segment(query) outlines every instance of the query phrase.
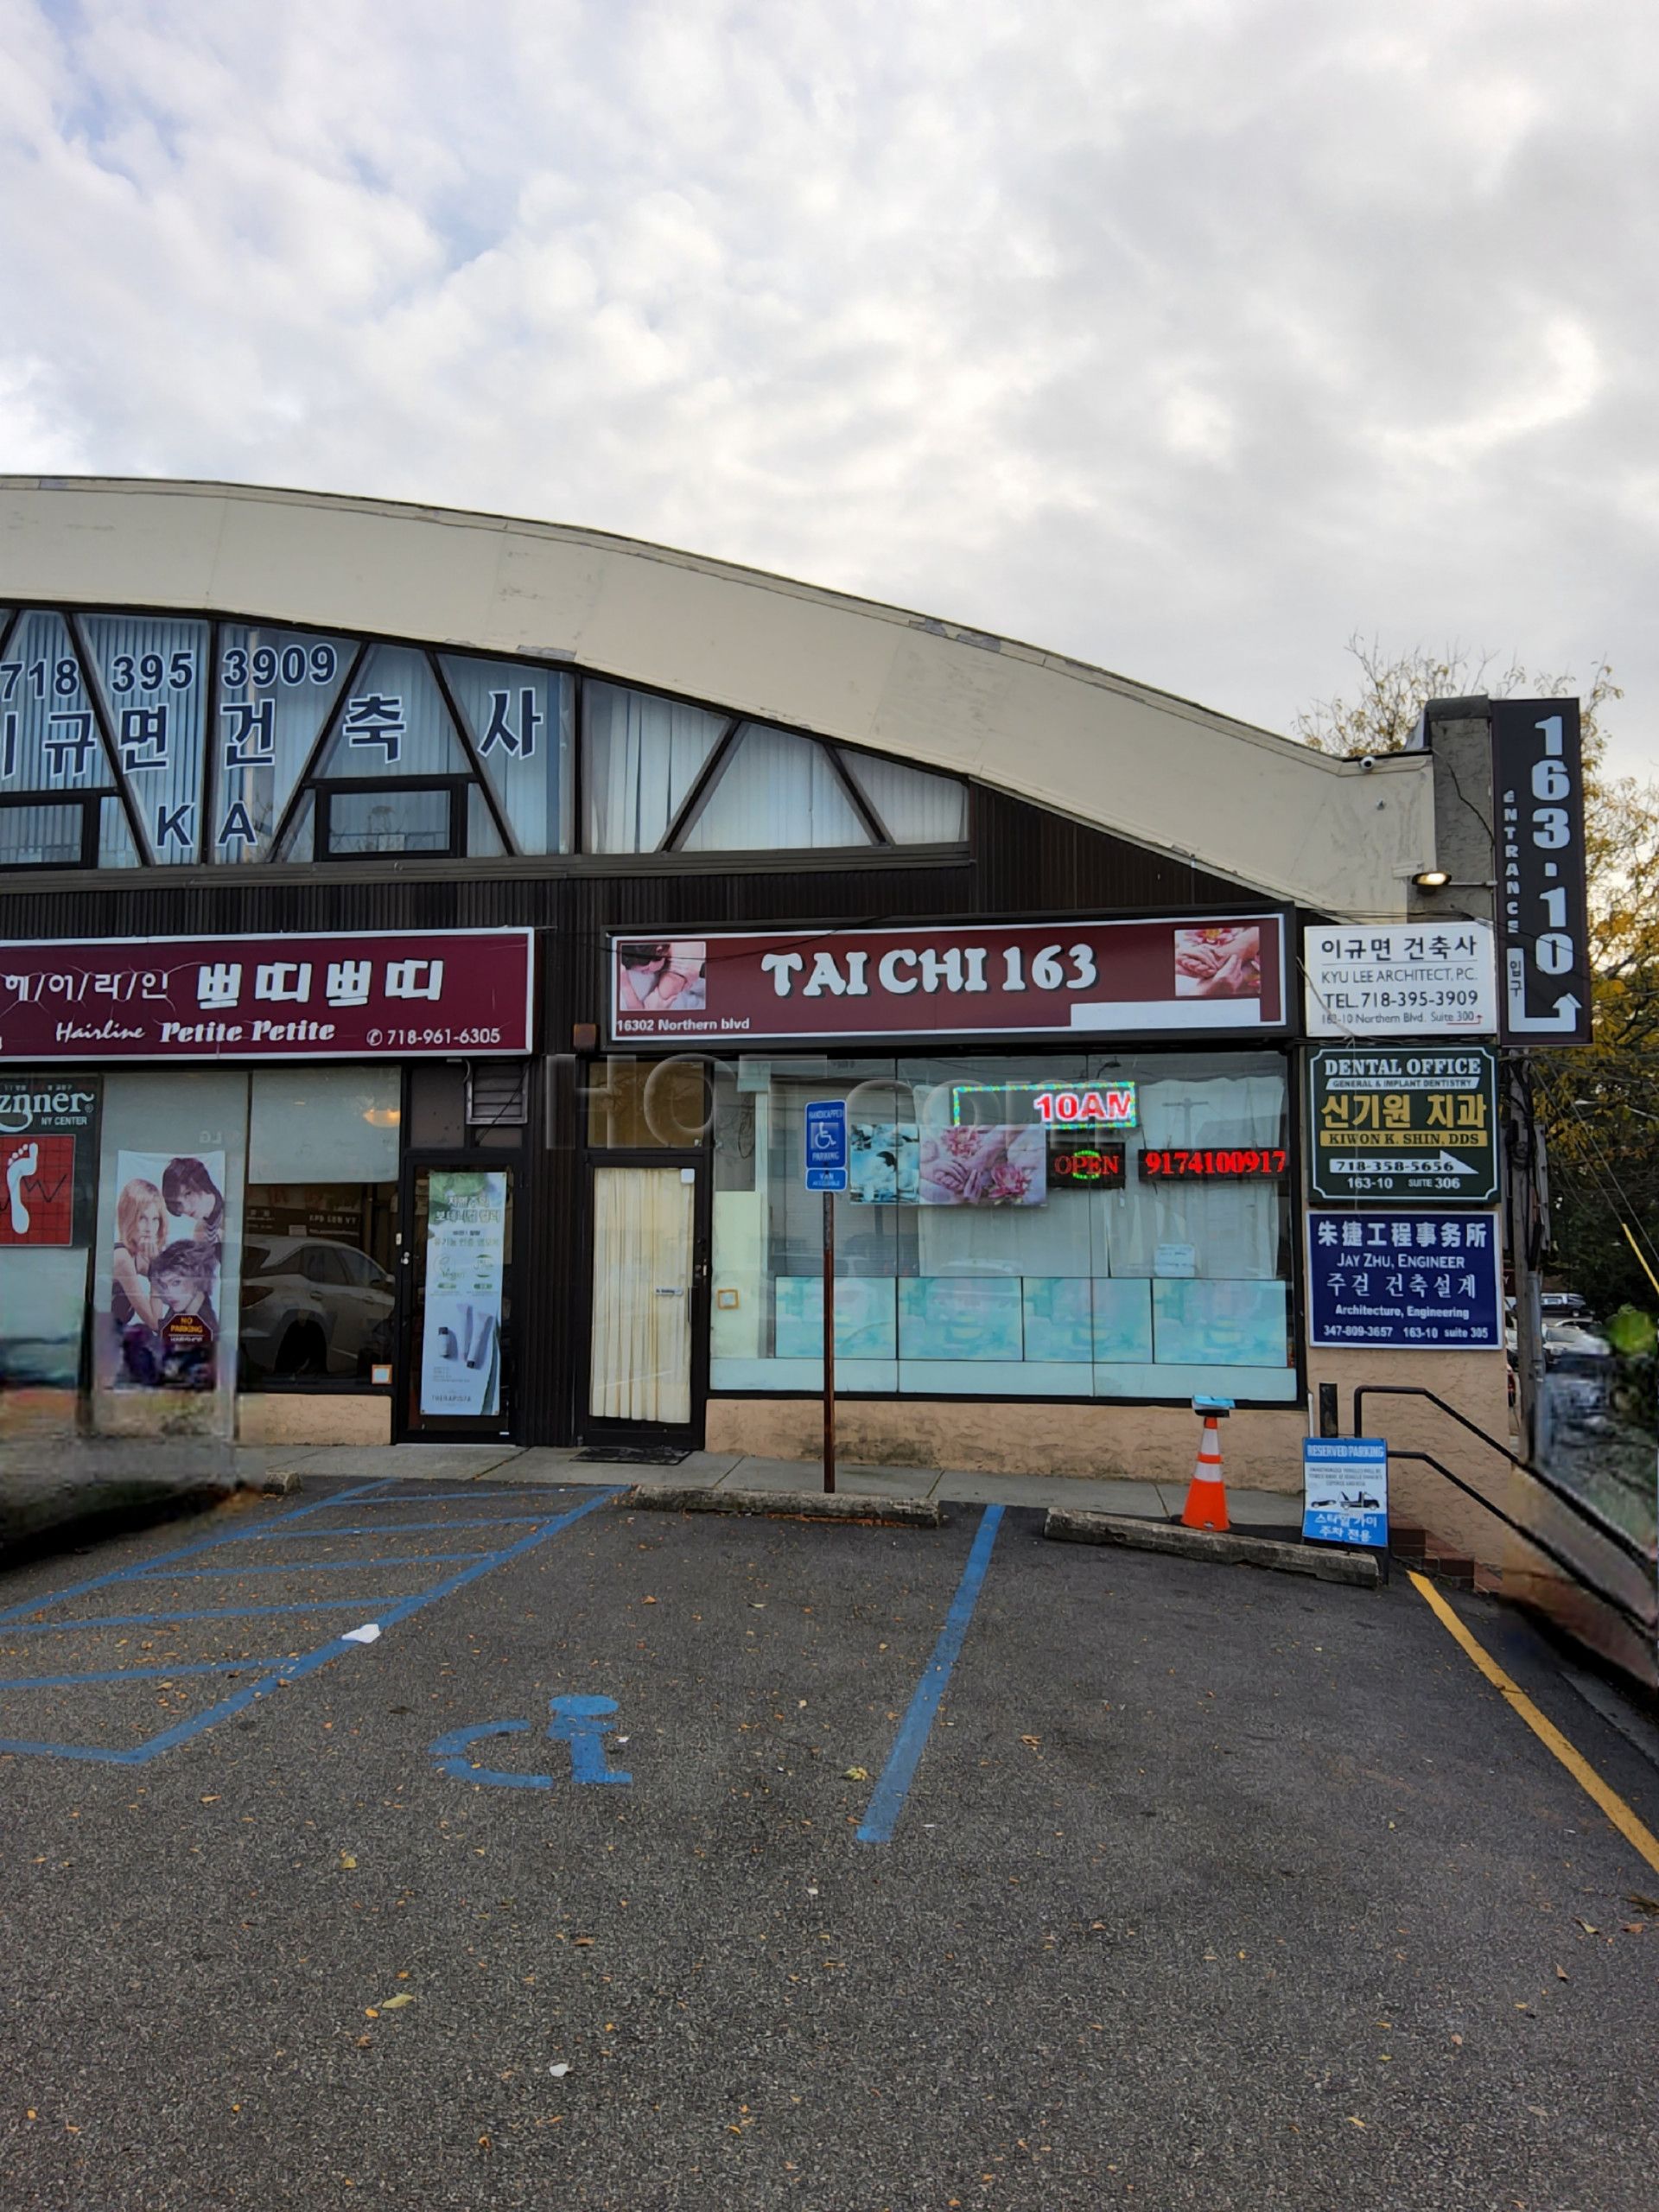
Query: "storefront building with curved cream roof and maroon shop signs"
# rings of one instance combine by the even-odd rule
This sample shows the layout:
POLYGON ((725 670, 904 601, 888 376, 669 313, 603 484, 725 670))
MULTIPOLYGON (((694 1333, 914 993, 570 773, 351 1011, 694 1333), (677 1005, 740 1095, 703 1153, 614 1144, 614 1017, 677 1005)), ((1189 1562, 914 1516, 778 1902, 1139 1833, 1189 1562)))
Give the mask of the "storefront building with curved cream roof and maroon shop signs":
POLYGON ((1502 1418, 1495 1186, 1453 1261, 1310 1179, 1307 933, 1460 958, 1427 752, 580 531, 0 520, 0 1433, 810 1455, 827 1097, 854 1458, 1175 1478, 1214 1394, 1290 1486, 1321 1380, 1502 1418), (1369 1349, 1325 1234, 1464 1338, 1369 1349))

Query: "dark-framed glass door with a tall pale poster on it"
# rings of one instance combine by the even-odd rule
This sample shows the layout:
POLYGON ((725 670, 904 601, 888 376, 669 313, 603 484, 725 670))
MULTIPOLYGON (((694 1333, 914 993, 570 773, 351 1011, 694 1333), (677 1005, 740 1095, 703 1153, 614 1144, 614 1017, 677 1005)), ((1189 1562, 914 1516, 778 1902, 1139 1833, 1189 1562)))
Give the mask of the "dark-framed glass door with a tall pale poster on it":
POLYGON ((513 1170, 409 1161, 403 1422, 409 1440, 511 1436, 513 1170))

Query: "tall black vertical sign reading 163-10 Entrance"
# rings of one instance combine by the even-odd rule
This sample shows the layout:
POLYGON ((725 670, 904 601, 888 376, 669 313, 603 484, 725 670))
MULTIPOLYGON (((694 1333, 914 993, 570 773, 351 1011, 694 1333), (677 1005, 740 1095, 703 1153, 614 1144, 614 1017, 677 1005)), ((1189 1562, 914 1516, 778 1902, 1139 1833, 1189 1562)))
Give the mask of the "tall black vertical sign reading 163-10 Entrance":
POLYGON ((1577 699, 1493 699, 1498 953, 1506 1044, 1590 1042, 1577 699))

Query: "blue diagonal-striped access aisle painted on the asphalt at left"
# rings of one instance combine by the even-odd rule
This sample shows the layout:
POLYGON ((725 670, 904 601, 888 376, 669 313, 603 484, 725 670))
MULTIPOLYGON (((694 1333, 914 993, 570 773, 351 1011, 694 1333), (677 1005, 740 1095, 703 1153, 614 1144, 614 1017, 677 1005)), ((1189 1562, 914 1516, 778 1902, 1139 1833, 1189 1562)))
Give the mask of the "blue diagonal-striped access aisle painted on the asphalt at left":
MULTIPOLYGON (((369 1491, 352 1491, 349 1498, 358 1506, 374 1506, 378 1500, 372 1495, 372 1491, 378 1491, 378 1489, 385 1489, 385 1484, 372 1484, 369 1491)), ((597 1491, 588 1493, 582 1500, 582 1504, 571 1506, 564 1513, 551 1515, 540 1526, 533 1526, 526 1535, 518 1537, 513 1544, 504 1544, 500 1551, 484 1553, 482 1557, 478 1557, 469 1566, 465 1566, 458 1575, 447 1575, 442 1582, 434 1582, 425 1590, 411 1590, 409 1595, 398 1597, 394 1601, 387 1601, 387 1599, 330 1599, 330 1604, 332 1606, 334 1604, 349 1606, 352 1610, 378 1608, 376 1610, 378 1626, 383 1630, 385 1628, 394 1628, 398 1621, 409 1619, 409 1615, 420 1613, 425 1606, 438 1604, 440 1597, 451 1597, 456 1590, 462 1590, 469 1582, 478 1582, 480 1575, 489 1575, 498 1566, 507 1566, 511 1559, 522 1559, 524 1553, 535 1551, 538 1544, 546 1544, 551 1537, 562 1535, 575 1522, 584 1520, 588 1513, 597 1511, 604 1504, 611 1504, 613 1498, 622 1498, 622 1495, 624 1495, 624 1484, 615 1484, 615 1486, 608 1486, 608 1489, 597 1489, 597 1491)), ((343 1502, 345 1502, 343 1498, 330 1498, 330 1500, 321 1500, 314 1506, 299 1506, 294 1513, 283 1515, 283 1522, 299 1520, 301 1515, 307 1515, 307 1513, 321 1513, 325 1506, 330 1506, 330 1504, 343 1504, 343 1502)), ((274 1531, 261 1531, 261 1535, 263 1533, 274 1533, 274 1531)), ((332 1533, 332 1531, 303 1531, 303 1533, 312 1535, 312 1533, 332 1533)), ((369 1524, 367 1533, 369 1535, 383 1535, 385 1531, 380 1526, 376 1526, 376 1524, 369 1524)), ((192 1557, 197 1553, 210 1551, 217 1544, 241 1544, 241 1542, 248 1542, 248 1537, 241 1537, 241 1535, 234 1535, 234 1537, 210 1537, 206 1544, 190 1544, 184 1551, 173 1553, 173 1557, 175 1559, 186 1559, 186 1557, 192 1557)), ((142 1566, 148 1566, 148 1564, 155 1564, 155 1562, 142 1562, 142 1566)), ((49 1610, 55 1604, 64 1604, 71 1597, 84 1597, 88 1590, 106 1588, 108 1584, 115 1584, 115 1582, 131 1582, 131 1579, 135 1579, 142 1573, 142 1566, 117 1568, 111 1575, 97 1575, 97 1577, 93 1577, 93 1582, 77 1584, 75 1588, 58 1590, 53 1597, 42 1597, 42 1599, 24 1601, 22 1606, 13 1606, 13 1608, 9 1608, 9 1613, 0 1615, 0 1621, 11 1621, 20 1613, 29 1613, 29 1615, 44 1613, 44 1610, 49 1610)), ((230 1573, 230 1568, 226 1568, 226 1573, 230 1573)), ((268 1610, 270 1613, 276 1613, 276 1610, 299 1613, 303 1608, 299 1608, 299 1606, 290 1606, 290 1608, 276 1608, 276 1606, 270 1606, 270 1608, 265 1608, 265 1606, 234 1608, 237 1615, 243 1615, 246 1610, 254 1610, 254 1613, 268 1613, 268 1610)), ((170 1624, 175 1619, 181 1619, 181 1615, 175 1615, 175 1613, 153 1613, 153 1615, 133 1615, 131 1619, 133 1619, 133 1624, 144 1624, 144 1626, 166 1626, 166 1624, 170 1624)), ((128 1621, 128 1617, 122 1615, 122 1626, 126 1626, 126 1621, 128 1621)), ((53 1628, 53 1626, 75 1628, 75 1630, 80 1630, 84 1635, 88 1630, 95 1632, 97 1628, 113 1626, 113 1619, 106 1617, 106 1619, 91 1619, 88 1621, 84 1615, 77 1617, 77 1619, 73 1619, 73 1621, 64 1621, 64 1624, 38 1624, 38 1621, 31 1619, 27 1624, 27 1632, 35 1632, 35 1628, 53 1628)), ((11 1632, 15 1635, 18 1630, 13 1628, 11 1632)), ((135 1743, 128 1750, 108 1750, 104 1745, 91 1745, 91 1743, 42 1743, 42 1741, 22 1739, 22 1736, 0 1736, 0 1752, 13 1752, 13 1754, 22 1754, 22 1756, 33 1754, 33 1756, 42 1756, 42 1759, 80 1759, 80 1761, 88 1761, 93 1765, 111 1765, 111 1767, 142 1767, 150 1759, 159 1759, 161 1752, 177 1750, 181 1743, 188 1743, 192 1736, 204 1734, 208 1728, 217 1728, 221 1721, 232 1719, 237 1712, 243 1712, 248 1705, 252 1705, 261 1697, 270 1697, 274 1690, 281 1690, 285 1683, 303 1681, 307 1674, 314 1674, 319 1668, 327 1666, 330 1659, 341 1659, 341 1657, 347 1657, 347 1655, 361 1652, 361 1650, 363 1650, 363 1644, 354 1641, 352 1632, 347 1630, 345 1635, 330 1637, 327 1644, 319 1644, 316 1650, 303 1652, 299 1659, 283 1659, 283 1661, 243 1659, 243 1661, 234 1661, 234 1663, 226 1661, 223 1663, 223 1672, 254 1672, 254 1670, 259 1670, 257 1679, 248 1681, 248 1683, 241 1683, 237 1690, 232 1690, 230 1697, 221 1699, 217 1705, 208 1705, 206 1712, 197 1712, 197 1714, 192 1714, 186 1721, 177 1721, 173 1728, 161 1730, 161 1734, 150 1736, 146 1743, 135 1743)), ((179 1668, 179 1670, 168 1668, 168 1674, 173 1674, 173 1672, 181 1674, 186 1670, 184 1668, 179 1668)), ((131 1679, 139 1679, 139 1670, 119 1668, 115 1672, 100 1670, 100 1672, 84 1672, 84 1674, 77 1674, 77 1677, 40 1677, 40 1679, 27 1681, 24 1686, 27 1688, 73 1688, 80 1681, 86 1681, 86 1683, 108 1683, 108 1681, 124 1681, 128 1677, 131 1679)), ((9 1688, 15 1690, 20 1686, 13 1683, 9 1688)))

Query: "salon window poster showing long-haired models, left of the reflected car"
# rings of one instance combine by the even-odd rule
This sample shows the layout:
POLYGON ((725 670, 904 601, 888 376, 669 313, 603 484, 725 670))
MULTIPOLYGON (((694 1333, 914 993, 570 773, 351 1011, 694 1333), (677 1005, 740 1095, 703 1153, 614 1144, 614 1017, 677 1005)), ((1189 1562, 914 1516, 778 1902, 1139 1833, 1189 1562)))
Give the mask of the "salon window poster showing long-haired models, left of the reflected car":
POLYGON ((106 1360, 115 1389, 212 1389, 223 1152, 122 1152, 106 1360), (188 1316, 199 1327, 173 1329, 188 1316))

